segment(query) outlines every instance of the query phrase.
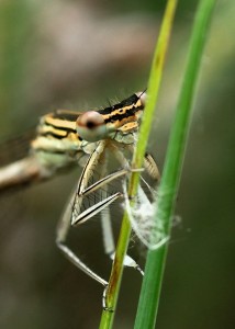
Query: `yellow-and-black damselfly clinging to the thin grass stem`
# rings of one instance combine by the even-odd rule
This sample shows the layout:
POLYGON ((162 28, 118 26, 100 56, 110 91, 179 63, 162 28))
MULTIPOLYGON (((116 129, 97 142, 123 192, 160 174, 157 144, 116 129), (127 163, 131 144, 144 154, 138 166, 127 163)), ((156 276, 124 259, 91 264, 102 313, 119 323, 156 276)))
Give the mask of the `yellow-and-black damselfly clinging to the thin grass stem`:
MULTIPOLYGON (((108 186, 119 178, 125 178, 132 170, 128 158, 134 149, 145 98, 145 92, 139 92, 98 111, 78 113, 57 110, 49 113, 40 121, 29 157, 0 169, 0 190, 5 190, 49 179, 72 163, 83 167, 59 222, 56 242, 77 268, 104 286, 108 282, 66 246, 66 238, 70 226, 78 226, 101 213, 105 253, 113 258, 114 241, 109 205, 122 198, 123 192, 108 192, 108 186), (108 152, 121 166, 113 173, 108 173, 108 152), (94 179, 96 174, 98 179, 94 179), (101 190, 100 197, 97 197, 97 191, 101 190), (91 195, 93 203, 86 205, 86 197, 90 198, 91 195)), ((145 156, 144 167, 152 178, 158 180, 158 168, 150 155, 145 156)), ((125 265, 139 270, 130 257, 125 258, 125 265)))

